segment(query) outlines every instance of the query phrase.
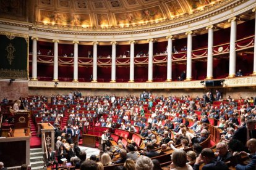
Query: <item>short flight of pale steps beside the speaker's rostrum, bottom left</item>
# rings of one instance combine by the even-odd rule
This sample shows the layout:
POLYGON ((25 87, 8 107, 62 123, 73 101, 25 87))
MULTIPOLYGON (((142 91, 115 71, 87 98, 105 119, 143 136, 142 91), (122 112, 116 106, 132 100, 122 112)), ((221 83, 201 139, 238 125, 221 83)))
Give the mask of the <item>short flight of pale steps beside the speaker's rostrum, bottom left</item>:
POLYGON ((30 148, 30 165, 32 170, 44 168, 42 148, 30 148))

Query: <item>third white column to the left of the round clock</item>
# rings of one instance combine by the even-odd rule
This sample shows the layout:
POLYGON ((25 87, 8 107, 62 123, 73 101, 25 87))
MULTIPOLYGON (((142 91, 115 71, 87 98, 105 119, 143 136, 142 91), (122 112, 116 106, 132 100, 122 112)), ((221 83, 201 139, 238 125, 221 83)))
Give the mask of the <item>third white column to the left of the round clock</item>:
POLYGON ((168 48, 167 48, 167 79, 166 81, 171 81, 171 70, 172 70, 172 48, 173 48, 173 36, 166 36, 168 39, 168 48))

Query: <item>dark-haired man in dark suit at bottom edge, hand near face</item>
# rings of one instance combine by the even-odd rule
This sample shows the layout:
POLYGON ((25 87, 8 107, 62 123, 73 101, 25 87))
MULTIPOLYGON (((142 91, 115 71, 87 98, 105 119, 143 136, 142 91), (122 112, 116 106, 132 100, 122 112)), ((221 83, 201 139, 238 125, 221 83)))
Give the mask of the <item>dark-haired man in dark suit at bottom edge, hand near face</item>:
POLYGON ((214 152, 210 148, 204 148, 195 161, 194 170, 199 170, 200 163, 205 163, 202 170, 228 170, 223 161, 217 161, 214 152))

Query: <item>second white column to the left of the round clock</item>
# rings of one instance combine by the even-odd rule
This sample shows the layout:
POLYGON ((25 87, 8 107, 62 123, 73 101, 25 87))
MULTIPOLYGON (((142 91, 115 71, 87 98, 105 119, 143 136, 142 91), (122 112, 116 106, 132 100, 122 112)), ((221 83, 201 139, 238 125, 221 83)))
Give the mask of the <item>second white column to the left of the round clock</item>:
POLYGON ((188 31, 187 35, 187 77, 186 81, 192 79, 192 31, 188 31))

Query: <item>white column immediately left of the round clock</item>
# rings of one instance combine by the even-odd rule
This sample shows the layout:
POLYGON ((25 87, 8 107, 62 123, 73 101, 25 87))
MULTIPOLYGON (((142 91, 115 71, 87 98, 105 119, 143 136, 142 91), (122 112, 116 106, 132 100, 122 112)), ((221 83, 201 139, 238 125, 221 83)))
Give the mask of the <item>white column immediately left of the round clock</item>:
POLYGON ((213 79, 213 25, 207 26, 208 49, 207 49, 207 78, 213 79))

